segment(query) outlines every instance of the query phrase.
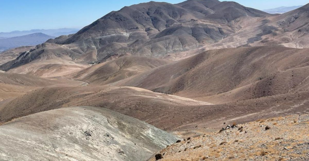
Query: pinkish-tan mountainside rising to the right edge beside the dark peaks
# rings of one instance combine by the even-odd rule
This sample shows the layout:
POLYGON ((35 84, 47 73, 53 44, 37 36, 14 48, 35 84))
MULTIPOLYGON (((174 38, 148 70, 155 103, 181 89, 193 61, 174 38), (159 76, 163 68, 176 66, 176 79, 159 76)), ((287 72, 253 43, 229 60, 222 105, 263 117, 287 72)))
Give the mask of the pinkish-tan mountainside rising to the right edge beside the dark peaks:
POLYGON ((239 22, 241 30, 199 50, 238 46, 286 46, 308 48, 309 4, 285 14, 239 22))

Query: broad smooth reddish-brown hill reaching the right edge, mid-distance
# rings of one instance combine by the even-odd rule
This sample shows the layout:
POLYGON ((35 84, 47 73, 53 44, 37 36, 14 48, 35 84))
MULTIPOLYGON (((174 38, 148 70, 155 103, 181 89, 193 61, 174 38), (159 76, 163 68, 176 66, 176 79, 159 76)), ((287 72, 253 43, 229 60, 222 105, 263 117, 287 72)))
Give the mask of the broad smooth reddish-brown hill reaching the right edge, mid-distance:
POLYGON ((307 49, 240 47, 209 50, 116 83, 211 103, 306 88, 307 49))

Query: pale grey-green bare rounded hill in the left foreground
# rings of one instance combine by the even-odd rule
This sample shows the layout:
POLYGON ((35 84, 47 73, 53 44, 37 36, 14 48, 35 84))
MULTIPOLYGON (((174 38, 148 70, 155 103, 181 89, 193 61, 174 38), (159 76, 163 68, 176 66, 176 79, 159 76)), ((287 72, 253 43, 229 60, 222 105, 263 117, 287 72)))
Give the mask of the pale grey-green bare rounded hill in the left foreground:
POLYGON ((177 137, 95 107, 28 115, 0 126, 2 161, 144 161, 177 137))

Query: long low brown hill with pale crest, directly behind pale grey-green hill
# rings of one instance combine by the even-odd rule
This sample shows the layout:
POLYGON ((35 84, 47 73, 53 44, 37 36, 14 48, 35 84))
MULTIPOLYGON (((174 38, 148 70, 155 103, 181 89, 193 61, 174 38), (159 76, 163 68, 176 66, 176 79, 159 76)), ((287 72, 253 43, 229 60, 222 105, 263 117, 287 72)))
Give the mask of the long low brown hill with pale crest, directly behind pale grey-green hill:
MULTIPOLYGON (((146 121, 161 129, 176 129, 188 118, 181 111, 200 109, 210 103, 173 95, 151 92, 135 87, 45 87, 0 105, 0 122, 71 106, 104 107, 146 121), (195 108, 197 107, 197 108, 195 108), (177 111, 177 112, 176 112, 177 111), (175 113, 176 112, 176 113, 175 113), (173 120, 171 120, 173 119, 173 120)), ((196 116, 194 116, 196 117, 196 116)))

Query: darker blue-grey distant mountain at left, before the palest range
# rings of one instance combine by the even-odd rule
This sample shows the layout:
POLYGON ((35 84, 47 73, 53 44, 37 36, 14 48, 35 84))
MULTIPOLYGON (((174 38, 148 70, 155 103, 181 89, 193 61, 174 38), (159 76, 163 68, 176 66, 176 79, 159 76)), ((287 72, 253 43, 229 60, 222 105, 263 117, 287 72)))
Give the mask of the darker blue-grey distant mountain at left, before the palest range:
POLYGON ((48 39, 55 38, 43 33, 33 33, 12 38, 0 39, 0 52, 19 46, 33 46, 46 42, 48 39))

